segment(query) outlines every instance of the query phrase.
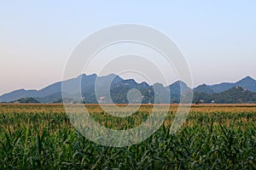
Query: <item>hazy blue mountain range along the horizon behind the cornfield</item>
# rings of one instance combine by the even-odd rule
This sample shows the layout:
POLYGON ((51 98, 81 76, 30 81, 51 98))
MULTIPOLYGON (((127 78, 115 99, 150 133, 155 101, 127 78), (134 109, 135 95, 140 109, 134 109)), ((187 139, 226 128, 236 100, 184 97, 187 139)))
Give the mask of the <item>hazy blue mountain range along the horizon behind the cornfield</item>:
MULTIPOLYGON (((68 84, 68 93, 78 94, 79 91, 75 88, 75 84, 81 81, 82 99, 76 100, 70 97, 67 99, 70 103, 109 103, 108 95, 102 94, 96 97, 95 84, 96 80, 100 82, 99 89, 108 88, 108 83, 111 81, 110 97, 113 103, 128 103, 127 93, 136 88, 142 94, 141 97, 137 94, 131 94, 136 97, 131 98, 132 103, 154 103, 156 96, 159 98, 159 103, 179 103, 180 90, 189 92, 193 90, 193 103, 256 103, 256 81, 252 77, 242 78, 239 82, 223 82, 215 85, 202 84, 194 89, 189 88, 184 82, 174 82, 169 86, 164 87, 160 83, 153 86, 147 82, 137 83, 133 79, 125 80, 114 74, 105 77, 97 77, 96 74, 81 75, 65 81, 68 84), (160 94, 154 95, 154 88, 158 88, 160 94), (170 90, 171 99, 166 99, 164 96, 170 90), (161 96, 163 97, 161 99, 161 96)), ((69 95, 69 94, 68 94, 69 95)), ((67 95, 67 96, 68 96, 67 95)), ((186 95, 186 93, 184 93, 186 95)), ((72 96, 72 95, 70 95, 72 96)), ((40 90, 15 90, 9 94, 0 96, 0 102, 17 102, 17 103, 61 103, 61 82, 55 82, 46 88, 40 90)))

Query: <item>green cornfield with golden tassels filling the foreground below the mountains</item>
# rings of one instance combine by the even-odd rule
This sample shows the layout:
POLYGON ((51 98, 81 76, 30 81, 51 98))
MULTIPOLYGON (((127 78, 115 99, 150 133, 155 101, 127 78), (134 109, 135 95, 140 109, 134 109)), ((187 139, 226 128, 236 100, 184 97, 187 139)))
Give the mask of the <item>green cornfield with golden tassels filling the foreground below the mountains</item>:
MULTIPOLYGON (((152 107, 120 118, 86 105, 96 122, 112 129, 136 127, 152 107)), ((256 105, 193 105, 183 127, 170 134, 176 111, 171 105, 164 124, 142 143, 116 148, 77 132, 63 105, 3 104, 0 169, 256 169, 256 105)))

